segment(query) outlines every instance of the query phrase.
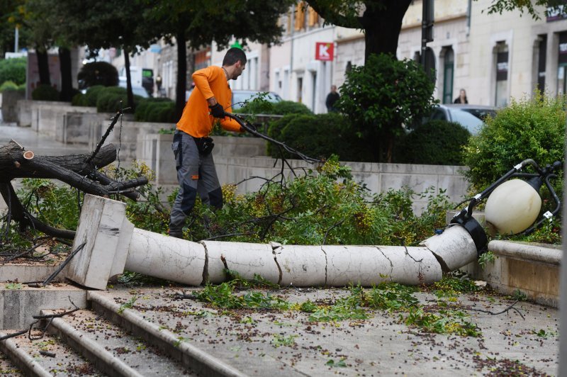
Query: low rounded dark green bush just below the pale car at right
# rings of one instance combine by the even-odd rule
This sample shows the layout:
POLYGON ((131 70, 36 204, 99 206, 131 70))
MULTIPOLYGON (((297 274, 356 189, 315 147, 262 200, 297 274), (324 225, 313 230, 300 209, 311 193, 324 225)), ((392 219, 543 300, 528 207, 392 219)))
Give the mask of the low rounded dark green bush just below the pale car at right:
POLYGON ((461 165, 470 136, 459 123, 431 120, 401 138, 394 159, 403 164, 461 165))

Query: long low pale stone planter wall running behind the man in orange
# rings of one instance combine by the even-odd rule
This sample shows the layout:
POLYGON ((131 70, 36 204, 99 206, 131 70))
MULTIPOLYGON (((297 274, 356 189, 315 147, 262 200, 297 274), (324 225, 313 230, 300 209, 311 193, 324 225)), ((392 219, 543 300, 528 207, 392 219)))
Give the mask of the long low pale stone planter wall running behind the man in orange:
MULTIPOLYGON (((111 123, 111 113, 96 113, 96 108, 70 106, 69 103, 52 101, 18 101, 18 120, 20 125, 31 124, 34 130, 52 135, 65 143, 88 145, 94 150, 96 144, 111 123)), ((134 122, 131 114, 118 121, 106 142, 120 148, 120 162, 128 164, 137 159, 145 162, 155 171, 155 184, 168 188, 177 186, 171 144, 173 135, 159 135, 161 129, 170 129, 171 123, 134 122)), ((262 179, 249 179, 252 176, 271 178, 281 171, 281 164, 265 157, 266 142, 254 137, 216 136, 213 155, 218 176, 222 184, 238 183, 240 193, 256 191, 262 179)), ((294 168, 313 168, 301 160, 288 161, 294 168)), ((371 193, 381 193, 389 189, 408 187, 416 192, 433 187, 435 193, 445 190, 452 201, 461 201, 466 194, 467 184, 459 171, 464 167, 439 165, 378 164, 365 162, 346 162, 352 168, 354 179, 361 181, 371 193)), ((286 167, 283 174, 292 178, 286 167)), ((427 205, 427 198, 415 198, 414 210, 417 213, 427 205)))

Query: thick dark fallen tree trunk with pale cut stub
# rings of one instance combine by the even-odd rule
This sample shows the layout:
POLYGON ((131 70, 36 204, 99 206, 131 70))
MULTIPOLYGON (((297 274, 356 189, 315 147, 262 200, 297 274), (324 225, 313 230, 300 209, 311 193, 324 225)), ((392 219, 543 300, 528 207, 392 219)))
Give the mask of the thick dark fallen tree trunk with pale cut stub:
MULTIPOLYGON (((47 235, 74 238, 73 230, 51 227, 31 215, 22 205, 13 189, 11 180, 15 178, 58 179, 85 193, 108 197, 120 193, 136 200, 139 193, 132 188, 147 184, 145 177, 118 182, 102 174, 98 169, 106 167, 116 159, 116 147, 106 145, 92 154, 72 154, 66 156, 37 156, 11 140, 0 146, 0 193, 9 208, 9 220, 16 220, 20 230, 33 227, 47 235)), ((9 222, 8 225, 9 226, 9 222)))

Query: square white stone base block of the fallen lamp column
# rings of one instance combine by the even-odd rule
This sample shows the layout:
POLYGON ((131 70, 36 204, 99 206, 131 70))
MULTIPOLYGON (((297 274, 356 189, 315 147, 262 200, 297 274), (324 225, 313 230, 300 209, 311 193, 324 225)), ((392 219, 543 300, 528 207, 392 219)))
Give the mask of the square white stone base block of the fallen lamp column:
POLYGON ((122 202, 85 195, 73 249, 83 242, 86 245, 67 265, 67 278, 82 286, 105 289, 112 274, 124 271, 134 230, 125 210, 122 202))

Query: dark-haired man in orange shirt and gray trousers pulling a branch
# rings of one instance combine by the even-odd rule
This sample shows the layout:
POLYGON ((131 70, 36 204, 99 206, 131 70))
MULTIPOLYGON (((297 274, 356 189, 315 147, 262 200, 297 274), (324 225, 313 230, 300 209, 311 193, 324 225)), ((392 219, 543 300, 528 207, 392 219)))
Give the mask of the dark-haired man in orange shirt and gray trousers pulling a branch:
POLYGON ((179 193, 169 219, 169 235, 172 237, 183 237, 185 219, 193 209, 197 193, 203 203, 214 208, 223 207, 223 191, 210 154, 213 139, 208 136, 216 122, 220 122, 225 130, 244 131, 235 120, 225 118, 225 111, 232 112, 228 80, 237 79, 245 67, 245 52, 232 47, 224 57, 223 67, 210 66, 193 73, 195 89, 173 137, 179 193))

